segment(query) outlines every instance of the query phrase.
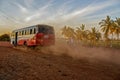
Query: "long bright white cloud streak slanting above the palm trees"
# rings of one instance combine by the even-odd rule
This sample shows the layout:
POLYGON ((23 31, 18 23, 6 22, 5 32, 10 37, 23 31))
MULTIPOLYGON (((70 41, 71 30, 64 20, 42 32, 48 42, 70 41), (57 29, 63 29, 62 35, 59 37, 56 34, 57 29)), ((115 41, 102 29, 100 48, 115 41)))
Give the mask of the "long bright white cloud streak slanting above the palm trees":
POLYGON ((83 16, 87 16, 89 14, 95 13, 97 11, 100 11, 102 9, 105 9, 109 6, 112 6, 114 4, 113 1, 106 1, 104 3, 98 3, 98 4, 94 4, 94 5, 88 5, 87 7, 80 9, 80 10, 76 10, 72 13, 68 13, 63 17, 64 20, 70 20, 70 19, 74 19, 75 17, 83 17, 83 16))

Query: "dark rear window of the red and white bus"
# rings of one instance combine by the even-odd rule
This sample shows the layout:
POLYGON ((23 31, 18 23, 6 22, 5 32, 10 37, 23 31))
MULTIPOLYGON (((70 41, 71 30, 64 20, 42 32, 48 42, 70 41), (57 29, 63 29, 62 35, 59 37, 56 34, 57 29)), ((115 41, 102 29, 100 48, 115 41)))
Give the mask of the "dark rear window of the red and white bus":
POLYGON ((40 26, 38 32, 44 34, 54 34, 54 29, 51 26, 40 26))

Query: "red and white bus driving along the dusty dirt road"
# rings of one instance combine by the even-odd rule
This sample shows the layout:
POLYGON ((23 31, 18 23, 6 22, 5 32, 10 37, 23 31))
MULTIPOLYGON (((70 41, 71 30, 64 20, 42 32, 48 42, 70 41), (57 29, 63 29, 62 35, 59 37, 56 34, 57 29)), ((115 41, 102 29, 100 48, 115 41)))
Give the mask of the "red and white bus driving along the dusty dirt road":
POLYGON ((55 44, 54 28, 50 25, 37 24, 11 33, 11 44, 14 46, 47 46, 55 44))

